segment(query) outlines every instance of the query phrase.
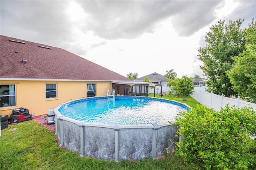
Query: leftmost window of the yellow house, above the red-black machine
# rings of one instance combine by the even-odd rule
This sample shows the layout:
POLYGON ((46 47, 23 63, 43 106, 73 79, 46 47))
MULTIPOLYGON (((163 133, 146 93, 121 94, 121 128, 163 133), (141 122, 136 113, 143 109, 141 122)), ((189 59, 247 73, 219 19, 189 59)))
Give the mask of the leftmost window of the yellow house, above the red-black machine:
POLYGON ((0 107, 16 106, 15 85, 0 85, 0 107))

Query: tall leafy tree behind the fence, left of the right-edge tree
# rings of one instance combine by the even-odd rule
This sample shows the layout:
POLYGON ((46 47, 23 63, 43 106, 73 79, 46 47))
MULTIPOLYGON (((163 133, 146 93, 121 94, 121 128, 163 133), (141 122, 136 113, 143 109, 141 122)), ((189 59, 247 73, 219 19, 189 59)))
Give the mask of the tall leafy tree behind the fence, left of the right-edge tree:
POLYGON ((235 95, 232 84, 226 73, 234 64, 235 56, 238 56, 244 50, 245 40, 244 32, 240 30, 244 20, 219 21, 218 25, 210 28, 210 32, 205 37, 208 43, 206 47, 201 47, 199 51, 199 59, 204 62, 200 66, 204 75, 208 77, 208 91, 226 97, 235 95))

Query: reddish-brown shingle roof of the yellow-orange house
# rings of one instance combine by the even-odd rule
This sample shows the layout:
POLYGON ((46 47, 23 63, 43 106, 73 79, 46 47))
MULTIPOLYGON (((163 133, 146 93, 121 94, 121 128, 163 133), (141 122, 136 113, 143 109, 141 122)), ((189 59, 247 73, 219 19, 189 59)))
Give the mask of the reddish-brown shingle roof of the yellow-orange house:
POLYGON ((0 78, 130 80, 64 49, 6 36, 0 37, 0 78), (27 60, 27 63, 23 63, 23 59, 27 60))

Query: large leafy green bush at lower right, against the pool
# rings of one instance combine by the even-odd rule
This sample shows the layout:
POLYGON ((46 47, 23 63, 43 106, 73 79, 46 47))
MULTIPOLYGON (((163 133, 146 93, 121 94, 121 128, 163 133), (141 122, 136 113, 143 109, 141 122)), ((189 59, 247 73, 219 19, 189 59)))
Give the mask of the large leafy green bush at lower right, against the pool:
POLYGON ((252 108, 236 109, 228 105, 215 111, 197 105, 176 117, 178 134, 176 153, 198 169, 255 169, 256 115, 252 108))

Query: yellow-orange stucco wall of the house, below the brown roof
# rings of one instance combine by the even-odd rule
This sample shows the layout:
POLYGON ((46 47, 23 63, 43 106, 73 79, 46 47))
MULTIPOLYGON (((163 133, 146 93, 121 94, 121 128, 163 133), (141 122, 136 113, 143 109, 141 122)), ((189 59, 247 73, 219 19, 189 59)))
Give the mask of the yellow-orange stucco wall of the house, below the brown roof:
POLYGON ((110 82, 83 81, 2 81, 0 84, 16 84, 16 106, 0 108, 0 115, 11 115, 16 108, 27 108, 35 116, 45 115, 48 109, 55 109, 58 104, 70 99, 86 98, 87 83, 96 83, 96 96, 106 96, 112 90, 110 82), (46 99, 46 83, 57 84, 57 98, 46 99))

